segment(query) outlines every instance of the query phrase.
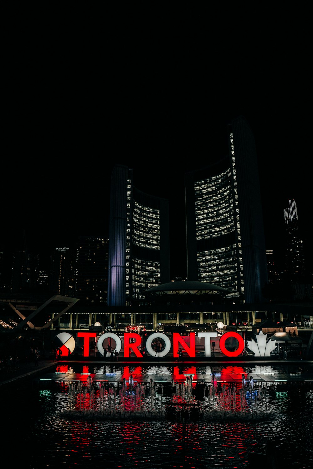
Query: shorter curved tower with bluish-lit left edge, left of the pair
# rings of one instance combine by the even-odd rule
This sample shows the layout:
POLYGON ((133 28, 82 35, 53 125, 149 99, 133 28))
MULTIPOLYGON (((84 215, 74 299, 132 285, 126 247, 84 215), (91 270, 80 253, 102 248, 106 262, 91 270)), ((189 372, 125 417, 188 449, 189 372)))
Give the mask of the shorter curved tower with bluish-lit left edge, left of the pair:
POLYGON ((116 165, 111 178, 108 306, 145 300, 169 281, 168 200, 133 185, 133 170, 116 165))

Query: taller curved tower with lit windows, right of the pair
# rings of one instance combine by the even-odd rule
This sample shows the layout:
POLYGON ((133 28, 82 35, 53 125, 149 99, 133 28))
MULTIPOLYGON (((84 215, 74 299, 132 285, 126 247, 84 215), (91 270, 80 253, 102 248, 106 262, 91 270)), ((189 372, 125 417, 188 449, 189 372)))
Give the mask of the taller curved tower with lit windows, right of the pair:
POLYGON ((263 301, 267 260, 254 136, 240 116, 228 126, 229 155, 185 175, 188 280, 263 301))

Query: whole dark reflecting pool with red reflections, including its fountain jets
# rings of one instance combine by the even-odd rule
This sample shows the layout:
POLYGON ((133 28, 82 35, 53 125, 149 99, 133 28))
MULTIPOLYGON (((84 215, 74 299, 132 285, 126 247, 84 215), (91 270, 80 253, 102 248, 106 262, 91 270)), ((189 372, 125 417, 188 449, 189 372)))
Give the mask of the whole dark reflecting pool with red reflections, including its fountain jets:
POLYGON ((258 468, 271 467, 272 457, 276 467, 309 468, 312 387, 299 382, 264 388, 257 378, 308 371, 310 365, 61 364, 42 375, 57 373, 63 378, 58 383, 29 379, 1 386, 2 448, 8 448, 10 464, 34 469, 258 468), (223 383, 219 389, 213 373, 223 383), (247 386, 243 394, 242 377, 251 375, 255 388, 251 393, 247 386), (86 391, 88 376, 92 392, 86 391), (195 386, 202 381, 199 397, 195 386), (243 405, 248 418, 242 418, 243 405))

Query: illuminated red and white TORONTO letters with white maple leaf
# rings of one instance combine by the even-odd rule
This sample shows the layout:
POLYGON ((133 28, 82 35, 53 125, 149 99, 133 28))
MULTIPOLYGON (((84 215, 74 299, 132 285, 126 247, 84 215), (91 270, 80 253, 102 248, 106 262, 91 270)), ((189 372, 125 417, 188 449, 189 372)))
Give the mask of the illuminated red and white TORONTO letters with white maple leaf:
MULTIPOLYGON (((77 337, 82 337, 84 338, 84 346, 83 346, 83 356, 89 356, 89 346, 90 346, 90 339, 96 338, 97 333, 95 332, 78 332, 77 337)), ((204 344, 205 344, 205 356, 211 356, 211 338, 217 337, 217 332, 199 332, 198 337, 204 338, 204 344)), ((189 344, 186 342, 187 336, 182 336, 177 332, 173 333, 173 356, 174 358, 178 357, 178 348, 181 347, 182 349, 185 350, 186 354, 190 357, 195 357, 196 356, 196 344, 195 344, 195 337, 196 333, 191 332, 190 335, 188 336, 189 339, 189 344)), ((266 335, 260 331, 259 335, 257 336, 257 342, 254 340, 251 340, 251 345, 248 347, 253 349, 255 356, 266 356, 270 355, 270 352, 273 350, 273 348, 276 347, 275 342, 267 342, 266 341, 266 335)), ((143 358, 143 355, 141 351, 139 350, 139 347, 142 345, 142 340, 141 336, 137 333, 124 333, 124 344, 122 344, 121 338, 111 332, 104 333, 100 335, 98 342, 97 342, 97 348, 98 351, 101 355, 106 354, 106 350, 103 347, 103 342, 106 339, 113 339, 115 340, 116 347, 115 349, 117 352, 120 352, 122 349, 122 346, 124 348, 124 357, 129 357, 130 352, 133 351, 134 354, 138 358, 143 358)), ((170 349, 171 349, 171 340, 169 337, 163 333, 153 333, 151 334, 145 344, 147 352, 152 355, 152 356, 157 356, 157 357, 162 357, 168 355, 170 349), (158 352, 155 355, 155 350, 152 348, 152 343, 154 340, 157 338, 164 340, 165 342, 165 347, 161 352, 158 352)), ((243 337, 238 334, 237 332, 226 332, 220 336, 219 339, 219 348, 221 352, 225 356, 229 357, 234 357, 234 356, 239 356, 240 354, 243 353, 244 351, 244 339, 243 337), (225 347, 225 342, 227 339, 230 337, 237 339, 238 341, 238 348, 235 351, 229 351, 225 347)))

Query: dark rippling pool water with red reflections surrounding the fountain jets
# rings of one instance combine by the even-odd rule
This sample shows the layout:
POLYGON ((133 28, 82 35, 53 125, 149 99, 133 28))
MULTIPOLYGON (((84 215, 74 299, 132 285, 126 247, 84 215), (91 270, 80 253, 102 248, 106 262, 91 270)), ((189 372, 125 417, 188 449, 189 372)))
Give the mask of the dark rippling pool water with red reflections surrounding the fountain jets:
MULTIPOLYGON (((105 379, 129 375, 143 382, 143 378, 166 376, 184 383, 186 375, 205 376, 212 373, 223 381, 242 373, 277 374, 308 371, 306 366, 225 367, 175 366, 138 367, 110 365, 58 365, 58 373, 80 373, 84 384, 89 374, 101 373, 105 379), (110 376, 115 373, 115 376, 110 376)), ((2 386, 3 387, 3 386, 2 386)), ((249 452, 264 452, 271 440, 276 451, 283 454, 284 467, 308 468, 312 464, 313 391, 296 386, 291 390, 267 394, 267 405, 275 419, 260 421, 182 421, 73 419, 64 415, 68 405, 68 388, 38 389, 32 382, 21 381, 2 389, 2 402, 10 405, 6 433, 16 442, 18 451, 10 454, 10 464, 23 461, 24 468, 247 468, 249 452), (6 398, 6 401, 5 401, 6 398), (14 403, 14 405, 12 404, 14 403), (17 440, 17 438, 19 438, 17 440), (20 461, 18 460, 20 458, 20 461)), ((156 399, 164 399, 157 394, 156 399)), ((132 401, 134 403, 134 400, 132 401)), ((217 401, 214 401, 217 403, 217 401)), ((5 440, 3 448, 5 448, 5 440)))

